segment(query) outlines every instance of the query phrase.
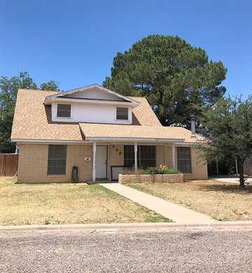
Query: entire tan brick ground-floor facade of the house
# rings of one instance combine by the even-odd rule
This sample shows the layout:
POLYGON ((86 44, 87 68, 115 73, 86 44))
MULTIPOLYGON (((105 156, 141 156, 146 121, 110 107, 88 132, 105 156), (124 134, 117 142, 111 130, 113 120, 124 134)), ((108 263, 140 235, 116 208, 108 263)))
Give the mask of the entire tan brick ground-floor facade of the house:
MULTIPOLYGON (((91 145, 67 146, 66 175, 47 175, 48 145, 20 144, 19 147, 18 182, 20 183, 70 182, 71 170, 74 165, 78 166, 79 181, 90 181, 92 179, 92 161, 84 160, 86 157, 92 158, 91 145)), ((157 166, 166 165, 172 168, 172 146, 157 146, 156 151, 157 166)), ((109 145, 108 153, 108 179, 111 179, 111 165, 124 165, 123 145, 109 145)), ((192 174, 184 174, 184 179, 207 179, 207 165, 203 164, 197 149, 191 149, 191 158, 192 174)))

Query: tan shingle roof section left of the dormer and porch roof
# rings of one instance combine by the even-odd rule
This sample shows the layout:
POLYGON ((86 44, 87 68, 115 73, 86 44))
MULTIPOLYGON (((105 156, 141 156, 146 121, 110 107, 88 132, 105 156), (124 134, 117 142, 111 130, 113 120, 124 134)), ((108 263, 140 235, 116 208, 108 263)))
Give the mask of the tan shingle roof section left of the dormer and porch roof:
POLYGON ((52 123, 43 90, 18 90, 11 139, 83 140, 78 123, 52 123))

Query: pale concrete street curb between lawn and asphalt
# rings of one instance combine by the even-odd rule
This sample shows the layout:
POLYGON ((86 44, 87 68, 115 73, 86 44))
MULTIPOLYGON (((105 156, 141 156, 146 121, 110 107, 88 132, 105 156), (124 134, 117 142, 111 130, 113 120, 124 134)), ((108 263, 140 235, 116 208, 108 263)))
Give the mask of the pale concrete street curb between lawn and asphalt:
POLYGON ((216 223, 109 223, 71 225, 10 225, 0 226, 4 231, 118 231, 118 230, 252 230, 252 221, 216 223))

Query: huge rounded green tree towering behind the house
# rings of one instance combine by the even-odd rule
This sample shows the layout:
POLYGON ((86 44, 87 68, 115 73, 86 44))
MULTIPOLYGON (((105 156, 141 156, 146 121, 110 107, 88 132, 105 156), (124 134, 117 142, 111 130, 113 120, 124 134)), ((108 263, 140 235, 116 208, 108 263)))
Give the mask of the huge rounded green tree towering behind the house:
POLYGON ((207 52, 178 36, 151 35, 113 59, 104 87, 121 94, 144 96, 162 125, 181 123, 225 94, 221 82, 227 69, 209 61, 207 52))

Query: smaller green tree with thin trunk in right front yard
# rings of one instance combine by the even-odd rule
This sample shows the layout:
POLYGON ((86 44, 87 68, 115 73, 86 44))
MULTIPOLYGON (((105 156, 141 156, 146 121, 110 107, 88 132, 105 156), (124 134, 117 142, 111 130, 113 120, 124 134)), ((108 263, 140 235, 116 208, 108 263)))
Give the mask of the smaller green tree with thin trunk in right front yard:
POLYGON ((209 161, 237 159, 239 182, 244 188, 244 160, 252 155, 252 97, 245 101, 219 99, 201 118, 207 137, 197 146, 209 161))

